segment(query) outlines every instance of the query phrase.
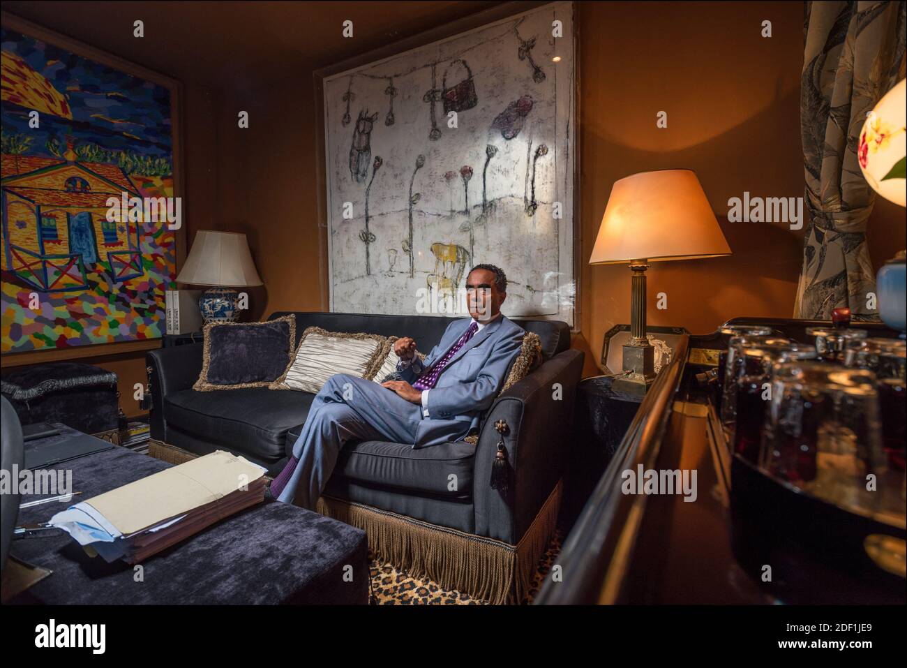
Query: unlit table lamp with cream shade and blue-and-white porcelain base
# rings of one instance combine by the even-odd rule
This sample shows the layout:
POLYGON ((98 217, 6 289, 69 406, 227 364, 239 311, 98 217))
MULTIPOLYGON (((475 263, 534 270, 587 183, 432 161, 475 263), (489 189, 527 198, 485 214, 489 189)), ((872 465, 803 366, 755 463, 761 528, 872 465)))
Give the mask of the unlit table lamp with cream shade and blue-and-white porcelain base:
POLYGON ((178 283, 210 286, 201 293, 201 317, 209 322, 233 322, 239 318, 239 292, 235 288, 261 285, 249 252, 246 235, 238 232, 200 230, 178 283))

